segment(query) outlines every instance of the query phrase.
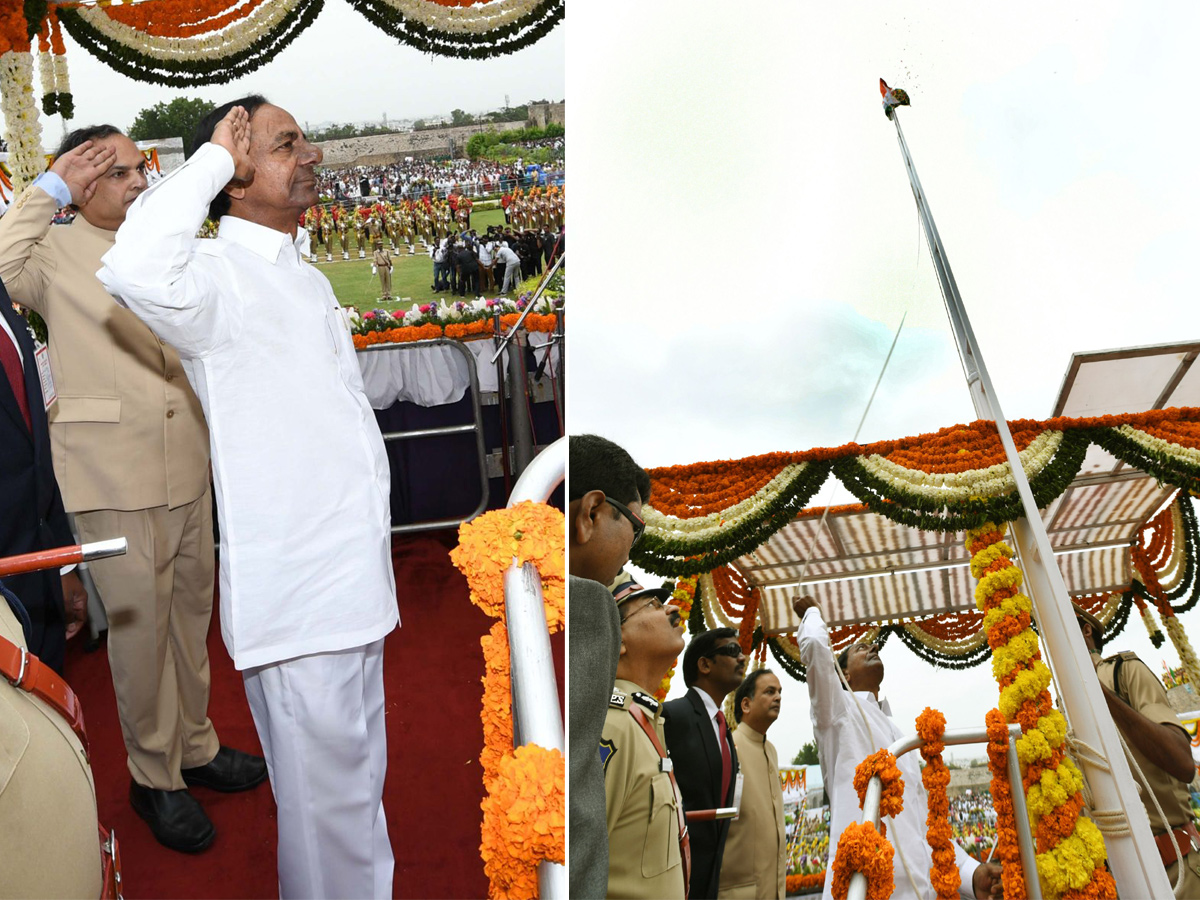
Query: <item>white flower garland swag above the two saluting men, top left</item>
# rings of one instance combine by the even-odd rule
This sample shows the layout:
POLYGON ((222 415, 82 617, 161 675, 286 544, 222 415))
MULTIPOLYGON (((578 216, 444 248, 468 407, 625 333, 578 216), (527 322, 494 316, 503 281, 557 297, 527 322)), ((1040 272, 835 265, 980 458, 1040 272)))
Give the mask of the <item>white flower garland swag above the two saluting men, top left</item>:
POLYGON ((79 7, 76 12, 108 40, 131 50, 167 62, 222 59, 250 49, 256 41, 295 12, 299 0, 271 0, 246 18, 216 32, 192 37, 148 35, 106 14, 103 7, 79 7))

